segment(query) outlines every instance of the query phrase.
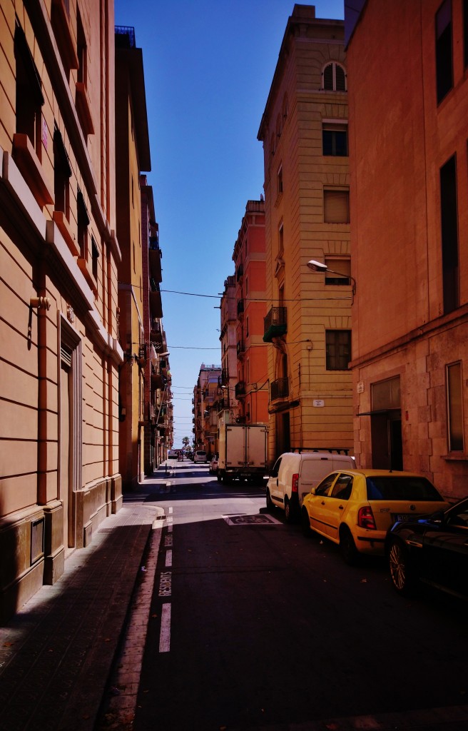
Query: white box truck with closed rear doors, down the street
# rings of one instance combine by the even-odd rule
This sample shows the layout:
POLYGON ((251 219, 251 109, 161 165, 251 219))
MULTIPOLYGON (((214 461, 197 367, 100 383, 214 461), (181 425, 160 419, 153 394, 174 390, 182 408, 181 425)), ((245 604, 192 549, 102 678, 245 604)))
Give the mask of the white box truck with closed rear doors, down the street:
POLYGON ((227 424, 218 427, 218 482, 233 480, 264 484, 268 427, 265 424, 227 424))

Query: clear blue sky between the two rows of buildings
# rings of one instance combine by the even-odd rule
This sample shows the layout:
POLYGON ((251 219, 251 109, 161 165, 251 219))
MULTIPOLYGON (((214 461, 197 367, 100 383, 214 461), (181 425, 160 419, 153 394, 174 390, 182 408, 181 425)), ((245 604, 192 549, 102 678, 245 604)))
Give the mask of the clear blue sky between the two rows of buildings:
MULTIPOLYGON (((263 192, 257 133, 293 7, 289 0, 115 0, 116 25, 133 26, 143 52, 152 168, 143 172, 163 252, 175 447, 192 438, 201 364, 220 364, 218 294, 234 273, 245 205, 263 192)), ((315 1, 315 15, 344 18, 343 0, 315 1)))

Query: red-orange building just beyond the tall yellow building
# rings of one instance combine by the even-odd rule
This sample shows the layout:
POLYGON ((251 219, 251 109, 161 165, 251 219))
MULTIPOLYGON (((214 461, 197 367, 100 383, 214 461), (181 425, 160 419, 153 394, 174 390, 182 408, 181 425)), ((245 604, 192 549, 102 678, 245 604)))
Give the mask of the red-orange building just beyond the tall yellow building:
POLYGON ((234 244, 236 271, 236 350, 238 420, 268 423, 268 363, 264 343, 266 315, 264 200, 249 200, 234 244))

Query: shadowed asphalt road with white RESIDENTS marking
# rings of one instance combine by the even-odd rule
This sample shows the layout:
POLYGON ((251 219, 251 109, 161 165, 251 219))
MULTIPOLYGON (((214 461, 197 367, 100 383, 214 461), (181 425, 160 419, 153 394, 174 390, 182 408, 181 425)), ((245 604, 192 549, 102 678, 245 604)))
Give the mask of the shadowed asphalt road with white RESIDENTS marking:
POLYGON ((467 704, 466 605, 402 599, 382 560, 348 567, 266 512, 264 489, 192 463, 173 473, 146 497, 168 521, 135 731, 306 730, 467 704))

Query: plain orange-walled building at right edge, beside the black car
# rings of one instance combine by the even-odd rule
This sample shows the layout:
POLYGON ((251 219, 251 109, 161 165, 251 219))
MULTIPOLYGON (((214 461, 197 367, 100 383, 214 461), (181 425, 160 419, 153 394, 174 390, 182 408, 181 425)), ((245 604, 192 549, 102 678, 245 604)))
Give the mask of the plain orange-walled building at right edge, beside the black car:
POLYGON ((468 6, 368 0, 345 15, 356 458, 464 496, 468 6))

